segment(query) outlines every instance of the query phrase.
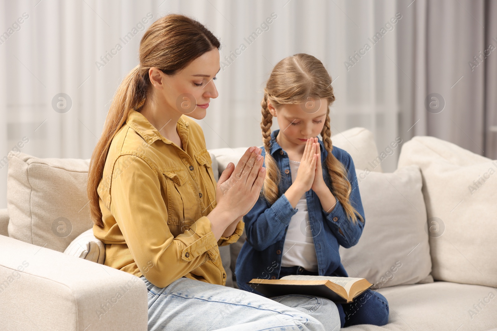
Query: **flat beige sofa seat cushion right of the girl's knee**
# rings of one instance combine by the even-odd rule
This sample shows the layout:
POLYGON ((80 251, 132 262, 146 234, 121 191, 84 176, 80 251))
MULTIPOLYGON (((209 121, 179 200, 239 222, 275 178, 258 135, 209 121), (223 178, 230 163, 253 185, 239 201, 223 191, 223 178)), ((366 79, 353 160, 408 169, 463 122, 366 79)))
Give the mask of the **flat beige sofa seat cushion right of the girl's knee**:
POLYGON ((388 324, 355 325, 343 330, 486 331, 497 325, 497 290, 493 287, 435 281, 386 287, 378 292, 388 300, 388 324))

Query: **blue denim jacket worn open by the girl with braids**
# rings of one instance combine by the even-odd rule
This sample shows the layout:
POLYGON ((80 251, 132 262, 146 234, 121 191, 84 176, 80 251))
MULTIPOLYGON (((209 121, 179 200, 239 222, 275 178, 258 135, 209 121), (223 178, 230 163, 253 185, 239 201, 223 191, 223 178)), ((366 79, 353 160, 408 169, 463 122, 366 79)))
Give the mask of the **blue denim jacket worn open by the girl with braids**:
MULTIPOLYGON (((290 219, 297 212, 297 209, 292 207, 283 194, 292 184, 292 177, 288 154, 275 139, 278 132, 279 130, 275 130, 271 133, 269 150, 281 173, 278 186, 279 198, 271 205, 262 196, 259 196, 255 205, 244 216, 247 241, 240 251, 235 270, 238 287, 257 294, 260 293, 250 288, 246 282, 252 278, 279 279, 286 231, 290 219)), ((325 149, 321 139, 319 139, 319 144, 323 177, 326 185, 331 190, 331 179, 326 163, 324 163, 328 151, 325 149)), ((260 148, 262 148, 261 155, 264 156, 265 150, 263 146, 260 148)), ((348 171, 347 178, 352 189, 350 203, 365 220, 354 162, 350 154, 341 148, 333 146, 332 153, 348 171)), ((265 166, 265 164, 263 165, 265 166)), ((364 223, 357 218, 357 223, 353 224, 347 218, 345 210, 339 201, 328 213, 323 209, 320 199, 312 189, 307 191, 305 195, 318 258, 319 275, 348 277, 345 268, 340 263, 338 245, 349 248, 357 244, 362 234, 364 223), (343 235, 339 232, 339 229, 341 229, 343 235)))

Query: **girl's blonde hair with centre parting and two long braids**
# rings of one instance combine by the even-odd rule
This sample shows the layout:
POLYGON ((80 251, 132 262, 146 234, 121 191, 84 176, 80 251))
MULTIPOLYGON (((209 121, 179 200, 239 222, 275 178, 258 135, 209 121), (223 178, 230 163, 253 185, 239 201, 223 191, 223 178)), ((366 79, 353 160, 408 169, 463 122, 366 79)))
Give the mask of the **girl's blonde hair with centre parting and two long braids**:
POLYGON ((278 184, 281 179, 279 168, 270 153, 273 116, 267 109, 267 103, 269 102, 273 107, 277 108, 283 104, 301 104, 308 100, 309 97, 328 100, 325 126, 321 136, 328 151, 323 171, 328 170, 330 174, 331 193, 340 201, 352 223, 357 223, 357 216, 359 216, 361 222, 364 222, 358 212, 356 216, 356 209, 349 201, 351 186, 347 179, 347 170, 331 153, 333 144, 331 143, 330 131, 330 106, 335 100, 331 77, 321 61, 309 54, 295 54, 278 62, 274 66, 264 88, 264 98, 260 103, 262 107, 260 127, 266 152, 264 162, 267 174, 262 186, 262 196, 269 203, 274 203, 279 198, 278 184))

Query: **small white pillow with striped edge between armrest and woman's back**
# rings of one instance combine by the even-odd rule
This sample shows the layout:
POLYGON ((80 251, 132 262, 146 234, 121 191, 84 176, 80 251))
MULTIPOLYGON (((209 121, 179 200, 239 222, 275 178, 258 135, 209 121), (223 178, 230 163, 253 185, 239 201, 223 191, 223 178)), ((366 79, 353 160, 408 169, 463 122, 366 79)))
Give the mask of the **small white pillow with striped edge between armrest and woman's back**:
POLYGON ((93 235, 92 228, 76 237, 64 253, 101 265, 105 262, 105 244, 93 235))

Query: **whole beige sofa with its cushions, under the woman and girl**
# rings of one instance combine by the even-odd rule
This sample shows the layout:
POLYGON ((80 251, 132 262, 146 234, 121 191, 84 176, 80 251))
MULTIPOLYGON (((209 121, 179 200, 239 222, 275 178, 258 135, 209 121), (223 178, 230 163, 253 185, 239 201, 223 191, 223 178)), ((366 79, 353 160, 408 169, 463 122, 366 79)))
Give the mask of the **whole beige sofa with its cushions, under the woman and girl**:
MULTIPOLYGON (((433 137, 378 149, 363 128, 332 141, 352 156, 366 216, 359 243, 340 248, 342 264, 373 283, 390 308, 384 327, 345 329, 497 328, 497 175, 490 170, 497 162, 433 137), (396 153, 398 169, 383 173, 381 162, 396 153)), ((245 150, 209 150, 214 173, 245 150)), ((0 329, 147 330, 147 289, 138 277, 63 253, 91 228, 88 161, 10 152, 0 210, 0 329)), ((227 271, 242 244, 221 249, 227 271)), ((229 277, 227 285, 236 282, 229 277)))

